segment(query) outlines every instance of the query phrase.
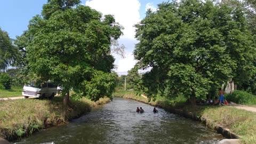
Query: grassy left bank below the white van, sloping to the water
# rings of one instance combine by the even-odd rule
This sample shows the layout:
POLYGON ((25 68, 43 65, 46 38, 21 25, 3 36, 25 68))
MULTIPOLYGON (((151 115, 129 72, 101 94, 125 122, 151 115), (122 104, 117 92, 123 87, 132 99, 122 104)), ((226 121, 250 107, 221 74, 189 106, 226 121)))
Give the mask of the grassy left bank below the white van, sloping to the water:
POLYGON ((18 99, 0 101, 0 137, 15 140, 50 126, 67 123, 89 111, 93 106, 110 101, 101 98, 93 102, 82 98, 70 100, 69 107, 63 106, 63 97, 53 100, 18 99))

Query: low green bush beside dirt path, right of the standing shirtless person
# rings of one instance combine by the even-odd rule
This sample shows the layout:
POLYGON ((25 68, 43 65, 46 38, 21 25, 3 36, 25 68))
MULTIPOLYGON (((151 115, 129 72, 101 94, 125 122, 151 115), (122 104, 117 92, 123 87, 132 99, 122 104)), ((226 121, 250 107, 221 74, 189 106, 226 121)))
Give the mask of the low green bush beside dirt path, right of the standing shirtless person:
POLYGON ((256 95, 248 93, 246 91, 236 90, 232 94, 225 95, 228 101, 232 101, 239 104, 256 105, 256 95))

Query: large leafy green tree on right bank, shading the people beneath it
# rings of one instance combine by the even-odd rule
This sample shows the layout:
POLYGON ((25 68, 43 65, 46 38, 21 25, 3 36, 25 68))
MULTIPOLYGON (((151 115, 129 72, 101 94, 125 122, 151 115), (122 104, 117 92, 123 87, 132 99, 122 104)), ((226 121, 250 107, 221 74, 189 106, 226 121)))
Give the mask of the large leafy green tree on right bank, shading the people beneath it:
POLYGON ((212 1, 162 3, 135 26, 140 41, 134 55, 147 95, 183 94, 195 104, 212 85, 250 77, 255 42, 243 9, 212 1))

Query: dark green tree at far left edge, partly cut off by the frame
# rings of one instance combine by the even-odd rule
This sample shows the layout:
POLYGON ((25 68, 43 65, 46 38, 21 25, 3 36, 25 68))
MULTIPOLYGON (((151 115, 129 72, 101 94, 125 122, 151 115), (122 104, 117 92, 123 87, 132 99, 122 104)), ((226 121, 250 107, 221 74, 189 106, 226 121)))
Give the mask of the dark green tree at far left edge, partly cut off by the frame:
POLYGON ((18 49, 12 44, 12 39, 0 28, 0 70, 12 65, 17 55, 18 49))

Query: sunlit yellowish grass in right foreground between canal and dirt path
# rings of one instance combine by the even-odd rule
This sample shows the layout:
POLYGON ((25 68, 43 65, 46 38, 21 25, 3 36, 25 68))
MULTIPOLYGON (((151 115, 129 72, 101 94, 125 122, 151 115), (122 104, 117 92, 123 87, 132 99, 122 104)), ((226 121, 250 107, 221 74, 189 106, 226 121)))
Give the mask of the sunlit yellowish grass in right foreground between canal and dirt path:
POLYGON ((222 126, 239 135, 243 143, 256 143, 256 113, 235 107, 206 107, 202 117, 210 119, 207 125, 222 126))

